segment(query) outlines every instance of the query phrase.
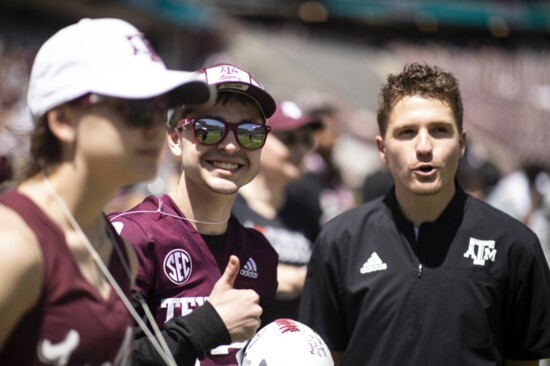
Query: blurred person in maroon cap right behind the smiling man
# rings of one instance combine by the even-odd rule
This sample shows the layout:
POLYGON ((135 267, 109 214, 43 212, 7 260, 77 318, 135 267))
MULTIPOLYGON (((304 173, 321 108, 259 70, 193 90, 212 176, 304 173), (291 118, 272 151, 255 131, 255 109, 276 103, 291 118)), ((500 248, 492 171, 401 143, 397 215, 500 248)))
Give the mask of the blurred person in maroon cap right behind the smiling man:
POLYGON ((288 100, 278 104, 269 125, 260 171, 241 188, 233 207, 239 221, 262 232, 279 254, 277 301, 266 309, 266 322, 298 315, 314 238, 301 226, 305 213, 285 207, 286 188, 302 175, 304 157, 315 148, 314 131, 322 126, 319 118, 303 114, 288 100))

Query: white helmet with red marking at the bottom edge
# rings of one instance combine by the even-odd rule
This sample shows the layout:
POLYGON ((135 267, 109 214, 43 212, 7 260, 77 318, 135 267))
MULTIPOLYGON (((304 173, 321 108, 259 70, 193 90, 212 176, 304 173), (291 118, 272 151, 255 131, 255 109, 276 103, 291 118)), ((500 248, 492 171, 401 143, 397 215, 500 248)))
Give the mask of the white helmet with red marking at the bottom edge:
POLYGON ((334 366, 323 339, 292 319, 277 319, 260 329, 237 353, 240 366, 334 366))

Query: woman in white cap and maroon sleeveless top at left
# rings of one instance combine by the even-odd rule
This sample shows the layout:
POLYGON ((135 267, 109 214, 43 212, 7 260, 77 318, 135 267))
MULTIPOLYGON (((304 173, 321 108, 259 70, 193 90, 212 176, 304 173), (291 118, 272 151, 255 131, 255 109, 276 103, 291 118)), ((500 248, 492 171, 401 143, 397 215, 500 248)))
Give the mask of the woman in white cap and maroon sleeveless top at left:
POLYGON ((168 103, 211 97, 122 20, 84 19, 44 43, 27 100, 32 162, 0 198, 1 365, 129 363, 137 261, 102 209, 155 176, 168 103))

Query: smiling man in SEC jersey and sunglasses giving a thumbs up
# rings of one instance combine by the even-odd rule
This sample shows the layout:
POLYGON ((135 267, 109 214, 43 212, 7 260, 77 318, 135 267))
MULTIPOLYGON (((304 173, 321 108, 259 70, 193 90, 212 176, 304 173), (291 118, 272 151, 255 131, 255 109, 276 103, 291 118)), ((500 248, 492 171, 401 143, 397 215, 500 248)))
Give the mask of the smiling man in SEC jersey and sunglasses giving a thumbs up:
MULTIPOLYGON (((177 364, 237 365, 238 350, 275 300, 278 258, 231 208, 260 169, 267 118, 276 104, 235 65, 198 73, 217 90, 217 99, 207 108, 184 105, 169 118, 168 145, 181 166, 178 182, 169 193, 149 195, 109 217, 138 255, 134 303, 151 309, 177 364), (231 275, 222 275, 224 268, 231 275), (216 281, 229 290, 224 298, 212 296, 216 281), (190 316, 194 328, 188 327, 190 316)), ((142 332, 135 347, 134 364, 161 363, 142 332)))

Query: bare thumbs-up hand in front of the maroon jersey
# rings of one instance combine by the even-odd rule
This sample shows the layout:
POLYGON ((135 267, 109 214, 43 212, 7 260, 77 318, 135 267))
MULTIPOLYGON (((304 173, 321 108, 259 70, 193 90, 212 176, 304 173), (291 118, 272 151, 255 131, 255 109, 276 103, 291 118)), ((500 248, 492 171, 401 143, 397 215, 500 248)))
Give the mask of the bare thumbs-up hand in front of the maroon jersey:
POLYGON ((236 290, 233 287, 239 268, 239 258, 232 255, 208 299, 223 320, 232 342, 252 338, 260 326, 262 314, 260 297, 254 290, 236 290))

